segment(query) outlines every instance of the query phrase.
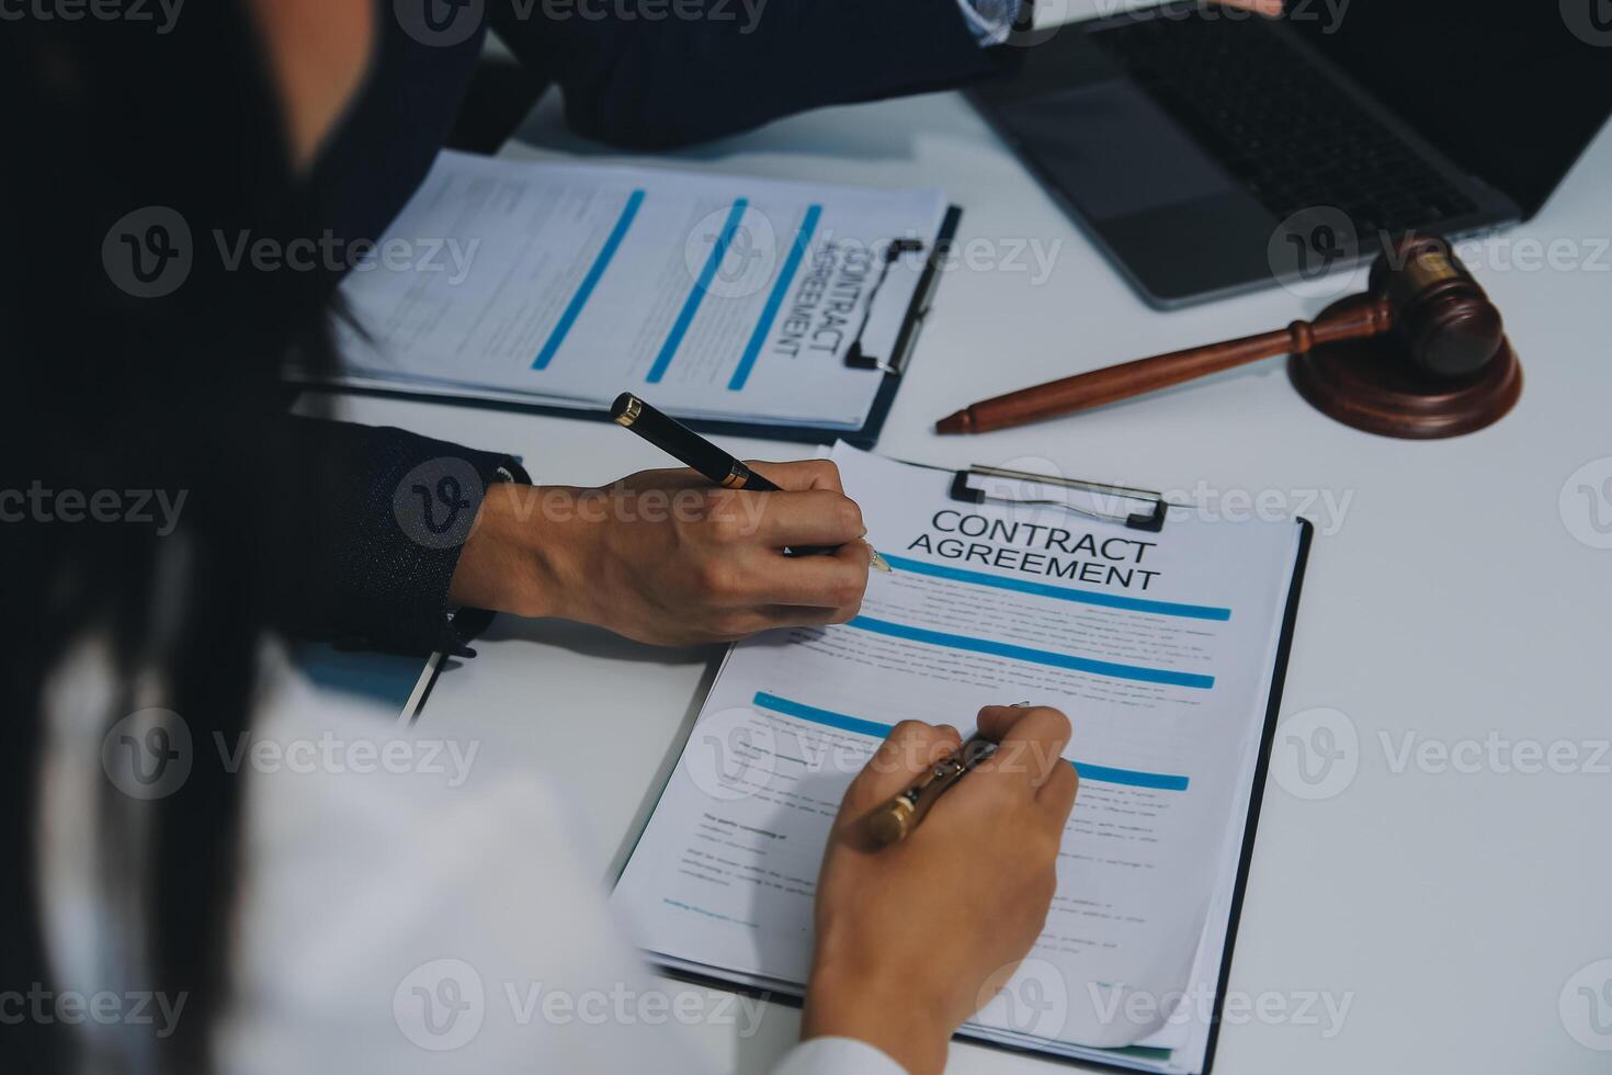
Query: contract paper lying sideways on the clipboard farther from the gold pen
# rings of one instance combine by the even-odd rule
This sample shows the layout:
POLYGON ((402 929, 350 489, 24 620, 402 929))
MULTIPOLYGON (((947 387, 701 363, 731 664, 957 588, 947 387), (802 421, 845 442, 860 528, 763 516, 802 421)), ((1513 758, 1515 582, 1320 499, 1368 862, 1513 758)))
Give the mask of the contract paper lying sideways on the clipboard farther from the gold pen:
POLYGON ((343 379, 859 429, 883 376, 846 351, 890 355, 945 210, 938 190, 443 151, 342 284, 343 379), (922 250, 887 264, 903 239, 922 250))

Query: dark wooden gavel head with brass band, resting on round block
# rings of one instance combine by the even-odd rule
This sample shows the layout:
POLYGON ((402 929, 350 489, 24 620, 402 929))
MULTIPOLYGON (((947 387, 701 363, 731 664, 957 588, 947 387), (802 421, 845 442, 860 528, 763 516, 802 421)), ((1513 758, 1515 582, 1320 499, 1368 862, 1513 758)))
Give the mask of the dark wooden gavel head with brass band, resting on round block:
POLYGON ((1370 287, 1388 303, 1410 361, 1435 377, 1473 374, 1501 350, 1501 311, 1444 239, 1404 235, 1388 243, 1372 264, 1370 287))

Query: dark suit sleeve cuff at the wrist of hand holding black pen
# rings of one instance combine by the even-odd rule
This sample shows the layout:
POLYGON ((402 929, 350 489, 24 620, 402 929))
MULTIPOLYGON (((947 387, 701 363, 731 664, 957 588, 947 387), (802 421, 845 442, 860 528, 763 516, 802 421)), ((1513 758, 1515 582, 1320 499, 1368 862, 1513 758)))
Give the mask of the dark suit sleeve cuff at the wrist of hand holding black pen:
POLYGON ((490 614, 450 619, 448 583, 485 490, 524 482, 521 466, 401 429, 289 421, 319 485, 308 585, 285 595, 285 627, 348 646, 469 654, 490 614))

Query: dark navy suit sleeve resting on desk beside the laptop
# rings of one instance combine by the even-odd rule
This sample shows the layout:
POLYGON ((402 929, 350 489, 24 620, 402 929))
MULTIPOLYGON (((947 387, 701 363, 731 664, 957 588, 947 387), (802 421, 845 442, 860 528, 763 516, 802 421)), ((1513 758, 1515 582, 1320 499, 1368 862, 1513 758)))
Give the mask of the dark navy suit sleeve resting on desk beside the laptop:
POLYGON ((956 0, 492 0, 493 29, 559 82, 579 132, 666 148, 819 105, 949 89, 1003 69, 1017 48, 980 48, 956 0), (659 3, 666 18, 643 11, 659 3), (683 3, 701 18, 675 18, 683 3), (575 6, 572 6, 572 3, 575 6), (759 3, 759 6, 756 6, 759 3), (721 5, 721 6, 719 6, 721 5), (584 18, 584 11, 611 11, 584 18), (754 11, 754 15, 751 15, 754 11))

